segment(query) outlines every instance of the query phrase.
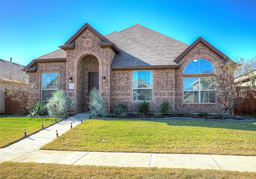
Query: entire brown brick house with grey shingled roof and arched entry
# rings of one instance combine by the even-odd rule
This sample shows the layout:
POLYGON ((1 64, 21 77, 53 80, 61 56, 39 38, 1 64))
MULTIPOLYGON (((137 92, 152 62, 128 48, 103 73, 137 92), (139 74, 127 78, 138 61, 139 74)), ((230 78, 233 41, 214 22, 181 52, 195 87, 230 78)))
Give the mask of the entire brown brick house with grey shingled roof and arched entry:
POLYGON ((226 113, 216 98, 224 87, 217 89, 215 66, 229 58, 201 37, 188 45, 139 24, 103 36, 86 23, 59 47, 24 68, 37 83, 30 106, 62 89, 75 98, 75 113, 87 112, 96 87, 108 112, 118 103, 136 112, 146 100, 151 112, 168 101, 179 113, 226 113))

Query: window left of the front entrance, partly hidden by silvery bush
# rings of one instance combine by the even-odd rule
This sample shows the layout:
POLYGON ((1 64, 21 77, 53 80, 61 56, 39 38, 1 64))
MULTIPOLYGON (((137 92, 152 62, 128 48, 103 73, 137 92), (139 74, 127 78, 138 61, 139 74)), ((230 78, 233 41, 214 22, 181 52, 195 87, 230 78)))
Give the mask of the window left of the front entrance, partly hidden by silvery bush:
POLYGON ((41 101, 49 101, 55 90, 58 90, 58 73, 42 73, 41 101))

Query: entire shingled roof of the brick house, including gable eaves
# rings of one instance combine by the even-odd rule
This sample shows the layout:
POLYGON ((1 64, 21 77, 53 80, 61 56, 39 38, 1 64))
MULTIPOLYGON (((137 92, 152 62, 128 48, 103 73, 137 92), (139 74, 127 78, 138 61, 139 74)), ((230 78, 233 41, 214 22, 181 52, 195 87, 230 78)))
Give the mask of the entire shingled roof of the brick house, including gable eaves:
POLYGON ((101 47, 110 46, 116 52, 116 56, 111 64, 112 69, 179 68, 178 60, 199 42, 208 46, 222 58, 227 59, 222 52, 201 37, 191 45, 188 45, 140 24, 120 32, 115 31, 102 36, 86 23, 64 45, 59 46, 61 49, 32 60, 24 70, 26 72, 34 72, 36 70, 36 62, 65 61, 65 50, 74 48, 75 39, 86 28, 90 29, 101 39, 99 43, 101 47))

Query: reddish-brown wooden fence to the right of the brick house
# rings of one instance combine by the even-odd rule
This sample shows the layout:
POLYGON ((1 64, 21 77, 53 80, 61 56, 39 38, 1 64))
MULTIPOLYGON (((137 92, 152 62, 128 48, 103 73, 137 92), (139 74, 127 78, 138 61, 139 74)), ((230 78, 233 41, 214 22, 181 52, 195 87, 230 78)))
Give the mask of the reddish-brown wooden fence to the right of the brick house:
POLYGON ((256 98, 250 94, 250 97, 234 109, 234 114, 238 115, 256 115, 256 98))

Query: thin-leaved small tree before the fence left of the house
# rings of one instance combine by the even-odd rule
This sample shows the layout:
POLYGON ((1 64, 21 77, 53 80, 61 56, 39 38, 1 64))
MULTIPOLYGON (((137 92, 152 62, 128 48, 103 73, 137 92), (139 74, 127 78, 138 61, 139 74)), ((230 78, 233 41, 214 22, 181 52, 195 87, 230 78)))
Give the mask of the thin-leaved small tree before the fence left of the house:
POLYGON ((9 74, 10 86, 2 89, 12 100, 17 101, 22 107, 24 113, 28 113, 28 97, 30 92, 35 91, 35 83, 28 82, 28 77, 24 72, 16 68, 12 69, 9 74))

